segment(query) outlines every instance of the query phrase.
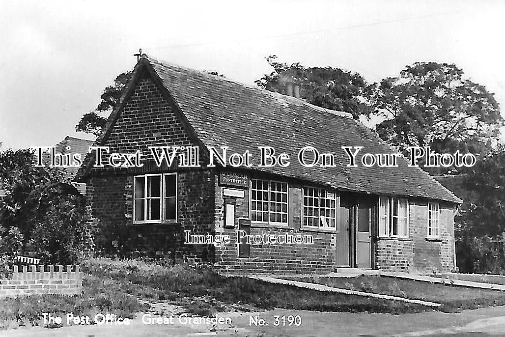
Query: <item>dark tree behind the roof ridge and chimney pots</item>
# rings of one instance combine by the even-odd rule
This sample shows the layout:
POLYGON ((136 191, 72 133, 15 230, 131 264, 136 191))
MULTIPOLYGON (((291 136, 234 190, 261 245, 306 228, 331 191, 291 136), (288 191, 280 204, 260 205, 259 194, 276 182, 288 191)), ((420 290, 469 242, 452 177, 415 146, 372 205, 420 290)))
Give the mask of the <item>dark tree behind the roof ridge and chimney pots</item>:
POLYGON ((300 86, 300 97, 319 107, 345 111, 356 119, 372 112, 370 98, 375 84, 368 84, 360 74, 332 67, 287 65, 276 62, 275 55, 266 59, 273 71, 257 80, 258 86, 284 93, 286 82, 293 81, 300 86))

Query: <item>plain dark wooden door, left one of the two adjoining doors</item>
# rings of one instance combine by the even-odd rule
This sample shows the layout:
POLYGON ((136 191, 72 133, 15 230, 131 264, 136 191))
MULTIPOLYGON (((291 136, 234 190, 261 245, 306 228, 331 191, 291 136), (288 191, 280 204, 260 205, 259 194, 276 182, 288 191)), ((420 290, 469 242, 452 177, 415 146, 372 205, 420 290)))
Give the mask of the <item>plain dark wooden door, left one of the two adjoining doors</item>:
POLYGON ((338 209, 337 261, 339 267, 350 267, 351 205, 341 199, 338 209))

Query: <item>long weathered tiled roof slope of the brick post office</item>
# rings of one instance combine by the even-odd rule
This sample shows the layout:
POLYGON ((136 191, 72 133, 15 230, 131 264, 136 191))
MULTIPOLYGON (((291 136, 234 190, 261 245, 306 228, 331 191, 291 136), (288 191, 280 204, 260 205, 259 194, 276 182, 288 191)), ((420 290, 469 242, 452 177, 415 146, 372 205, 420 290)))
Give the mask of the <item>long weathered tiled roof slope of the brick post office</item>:
MULTIPOLYGON (((142 64, 154 69, 207 147, 228 146, 230 153, 249 150, 257 157, 257 147, 271 146, 277 153, 288 153, 291 164, 286 168, 261 168, 263 171, 338 189, 461 202, 421 169, 408 167, 403 158, 395 168, 362 166, 364 153, 395 151, 372 130, 345 113, 151 57, 141 59, 136 69, 142 64), (305 146, 313 146, 320 153, 334 154, 336 167, 301 166, 297 154, 305 146), (357 157, 358 167, 346 166, 348 157, 342 146, 364 147, 357 157)), ((110 123, 109 127, 112 127, 110 123)), ((98 141, 105 140, 105 134, 99 136, 98 141)))

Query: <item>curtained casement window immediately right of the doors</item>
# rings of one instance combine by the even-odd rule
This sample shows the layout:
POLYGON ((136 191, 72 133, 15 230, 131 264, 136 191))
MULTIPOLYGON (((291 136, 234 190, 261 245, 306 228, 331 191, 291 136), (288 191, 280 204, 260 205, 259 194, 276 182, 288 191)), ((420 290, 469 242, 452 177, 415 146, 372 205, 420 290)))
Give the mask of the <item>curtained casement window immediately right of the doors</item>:
POLYGON ((379 237, 409 237, 409 201, 379 198, 379 237))

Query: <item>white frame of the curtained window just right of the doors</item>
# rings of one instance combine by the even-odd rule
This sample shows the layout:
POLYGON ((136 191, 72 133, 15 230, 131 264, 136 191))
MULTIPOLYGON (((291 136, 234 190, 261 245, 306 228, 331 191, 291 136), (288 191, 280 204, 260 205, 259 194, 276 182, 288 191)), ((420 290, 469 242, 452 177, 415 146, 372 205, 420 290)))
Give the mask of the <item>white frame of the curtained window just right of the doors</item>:
POLYGON ((379 228, 378 237, 382 238, 409 238, 410 231, 410 203, 408 199, 398 197, 379 197, 379 228), (381 207, 381 201, 384 208, 381 207), (405 202, 407 214, 401 215, 401 203, 405 202), (395 206, 397 205, 397 206, 395 206), (397 207, 397 215, 393 215, 393 207, 397 207), (397 219, 397 234, 393 234, 393 218, 397 219), (403 233, 400 232, 400 225, 403 227, 403 233))

